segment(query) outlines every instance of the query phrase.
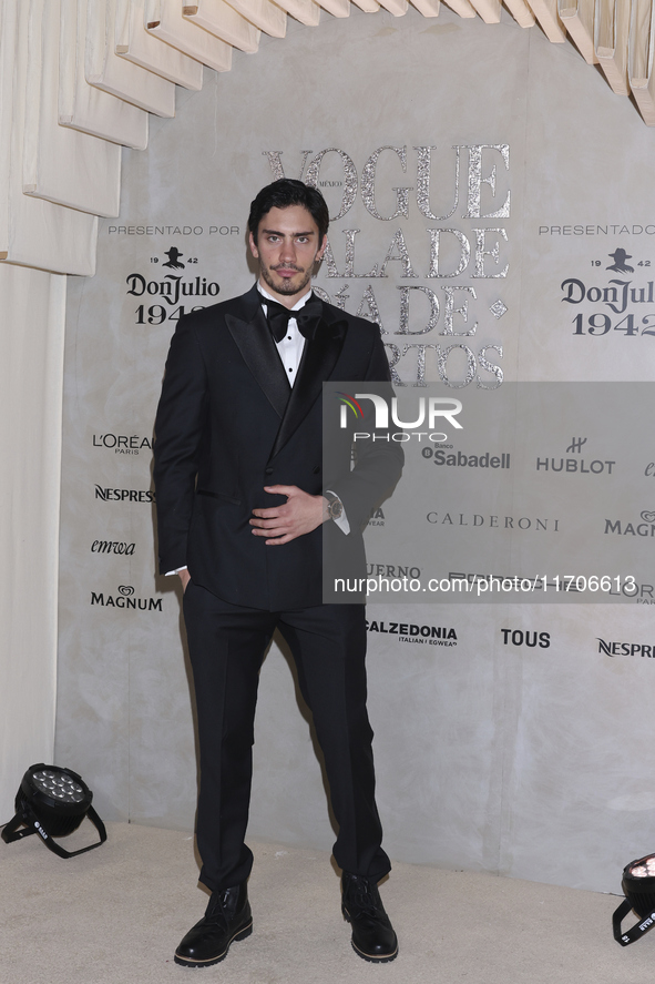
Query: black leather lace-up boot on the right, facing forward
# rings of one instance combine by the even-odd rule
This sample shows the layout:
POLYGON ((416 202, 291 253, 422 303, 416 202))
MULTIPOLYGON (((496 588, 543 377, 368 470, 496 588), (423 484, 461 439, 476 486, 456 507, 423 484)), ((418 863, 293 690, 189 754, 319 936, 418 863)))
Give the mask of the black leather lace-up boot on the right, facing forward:
POLYGON ((341 912, 352 925, 352 949, 362 960, 388 963, 398 956, 398 939, 378 886, 359 874, 341 875, 341 912))

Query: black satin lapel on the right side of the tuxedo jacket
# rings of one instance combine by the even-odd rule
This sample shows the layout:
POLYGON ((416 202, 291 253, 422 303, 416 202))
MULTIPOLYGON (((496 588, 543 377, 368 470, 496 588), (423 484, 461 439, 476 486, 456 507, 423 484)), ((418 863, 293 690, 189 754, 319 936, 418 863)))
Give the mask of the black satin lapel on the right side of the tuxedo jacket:
POLYGON ((323 393, 323 384, 329 379, 341 354, 346 331, 346 321, 329 324, 321 318, 313 341, 305 343, 298 375, 270 453, 272 458, 296 432, 323 393))

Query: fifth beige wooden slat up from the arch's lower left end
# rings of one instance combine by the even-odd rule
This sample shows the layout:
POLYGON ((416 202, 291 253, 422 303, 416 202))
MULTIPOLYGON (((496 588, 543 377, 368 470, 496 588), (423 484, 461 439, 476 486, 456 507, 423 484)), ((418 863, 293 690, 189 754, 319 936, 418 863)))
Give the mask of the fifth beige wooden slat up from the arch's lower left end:
POLYGON ((203 65, 145 30, 145 0, 117 0, 115 52, 127 61, 176 82, 185 89, 203 88, 203 65))

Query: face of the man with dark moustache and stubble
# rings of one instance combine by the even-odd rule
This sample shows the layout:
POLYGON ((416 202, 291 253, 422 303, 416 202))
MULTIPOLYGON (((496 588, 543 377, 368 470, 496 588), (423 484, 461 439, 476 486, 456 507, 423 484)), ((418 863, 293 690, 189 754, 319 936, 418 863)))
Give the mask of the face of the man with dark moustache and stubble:
POLYGON ((286 307, 306 293, 314 264, 320 260, 326 240, 304 205, 272 209, 259 222, 257 242, 249 234, 250 251, 259 261, 259 281, 286 307))

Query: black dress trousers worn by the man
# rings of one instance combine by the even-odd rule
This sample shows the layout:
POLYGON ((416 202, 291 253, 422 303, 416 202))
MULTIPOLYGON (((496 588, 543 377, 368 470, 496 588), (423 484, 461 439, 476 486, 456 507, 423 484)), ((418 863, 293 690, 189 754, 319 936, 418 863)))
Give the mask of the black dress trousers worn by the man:
POLYGON ((264 652, 279 629, 324 753, 339 832, 337 864, 379 881, 391 865, 380 843, 372 731, 366 710, 366 623, 359 605, 297 611, 245 608, 191 581, 184 616, 201 749, 196 835, 201 881, 212 891, 250 873, 244 839, 253 771, 254 719, 264 652))

